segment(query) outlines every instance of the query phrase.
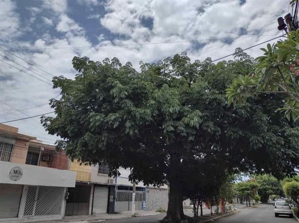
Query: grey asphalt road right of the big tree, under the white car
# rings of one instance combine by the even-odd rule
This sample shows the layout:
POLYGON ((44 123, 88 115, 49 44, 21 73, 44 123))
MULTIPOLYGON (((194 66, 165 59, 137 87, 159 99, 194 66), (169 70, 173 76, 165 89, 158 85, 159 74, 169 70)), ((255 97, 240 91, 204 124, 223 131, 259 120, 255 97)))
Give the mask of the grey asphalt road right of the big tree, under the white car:
POLYGON ((247 208, 237 214, 215 220, 215 223, 296 223, 289 216, 274 216, 272 204, 262 204, 256 208, 247 208))

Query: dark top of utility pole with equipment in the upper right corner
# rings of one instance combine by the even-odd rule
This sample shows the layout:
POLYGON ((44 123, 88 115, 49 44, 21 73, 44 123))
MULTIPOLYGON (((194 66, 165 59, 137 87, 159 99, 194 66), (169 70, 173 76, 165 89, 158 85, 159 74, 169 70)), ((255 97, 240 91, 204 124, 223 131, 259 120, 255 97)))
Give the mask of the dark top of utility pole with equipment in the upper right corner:
POLYGON ((299 0, 294 0, 291 2, 291 4, 292 4, 292 14, 291 13, 286 14, 284 16, 284 19, 282 17, 277 19, 278 30, 281 31, 284 30, 286 34, 288 34, 288 32, 296 31, 299 28, 299 24, 298 24, 299 0))

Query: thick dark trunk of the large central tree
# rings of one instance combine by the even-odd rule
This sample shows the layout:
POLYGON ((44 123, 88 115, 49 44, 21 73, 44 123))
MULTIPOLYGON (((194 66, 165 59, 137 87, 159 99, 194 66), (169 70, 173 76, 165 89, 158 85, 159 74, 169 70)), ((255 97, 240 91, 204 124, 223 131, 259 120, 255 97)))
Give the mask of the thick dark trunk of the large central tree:
POLYGON ((186 219, 183 210, 182 186, 176 180, 169 181, 168 209, 164 219, 178 222, 186 219))

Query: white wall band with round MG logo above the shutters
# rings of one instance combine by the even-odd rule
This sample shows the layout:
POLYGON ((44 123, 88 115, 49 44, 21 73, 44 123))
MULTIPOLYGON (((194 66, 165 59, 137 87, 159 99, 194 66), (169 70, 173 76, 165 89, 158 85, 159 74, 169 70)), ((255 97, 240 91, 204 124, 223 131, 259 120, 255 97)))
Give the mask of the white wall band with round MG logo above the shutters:
POLYGON ((0 183, 75 187, 75 176, 74 171, 0 161, 0 183), (9 177, 9 172, 14 167, 22 170, 18 181, 12 181, 9 177))

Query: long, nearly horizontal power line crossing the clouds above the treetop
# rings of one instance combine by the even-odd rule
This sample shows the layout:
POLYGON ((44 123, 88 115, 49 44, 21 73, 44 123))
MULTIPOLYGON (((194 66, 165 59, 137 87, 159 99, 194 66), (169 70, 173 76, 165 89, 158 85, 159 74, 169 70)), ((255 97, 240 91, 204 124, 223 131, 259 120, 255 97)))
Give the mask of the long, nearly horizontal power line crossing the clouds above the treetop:
MULTIPOLYGON (((263 36, 275 36, 273 35, 263 35, 263 36)), ((199 41, 217 41, 217 40, 227 40, 227 39, 237 39, 239 37, 229 37, 229 38, 212 38, 212 39, 204 39, 204 40, 189 40, 189 41, 168 41, 168 42, 144 42, 144 43, 130 43, 130 44, 112 44, 112 45, 105 45, 105 46, 69 46, 69 47, 52 47, 52 48, 23 48, 23 49, 8 49, 5 50, 6 52, 9 51, 35 51, 35 50, 50 50, 50 49, 80 49, 80 48, 102 48, 102 47, 115 47, 115 46, 135 46, 135 45, 154 45, 154 44, 167 44, 167 43, 180 43, 180 42, 199 42, 199 41)), ((246 37, 254 37, 256 35, 246 36, 246 37)), ((1 47, 0 47, 1 48, 1 47)), ((1 51, 1 50, 0 50, 1 51)))

